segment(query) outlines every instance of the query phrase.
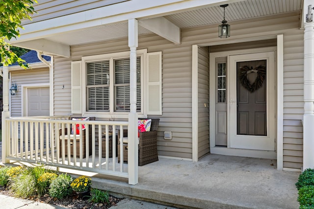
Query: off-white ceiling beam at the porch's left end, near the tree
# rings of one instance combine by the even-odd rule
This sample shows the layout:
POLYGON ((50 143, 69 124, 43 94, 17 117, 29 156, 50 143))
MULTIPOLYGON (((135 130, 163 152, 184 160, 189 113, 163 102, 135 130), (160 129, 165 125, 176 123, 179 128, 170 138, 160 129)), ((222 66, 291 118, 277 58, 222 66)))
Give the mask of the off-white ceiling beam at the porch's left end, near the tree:
POLYGON ((42 51, 46 55, 59 55, 68 58, 71 57, 70 46, 52 42, 47 39, 13 43, 12 45, 31 50, 42 51))

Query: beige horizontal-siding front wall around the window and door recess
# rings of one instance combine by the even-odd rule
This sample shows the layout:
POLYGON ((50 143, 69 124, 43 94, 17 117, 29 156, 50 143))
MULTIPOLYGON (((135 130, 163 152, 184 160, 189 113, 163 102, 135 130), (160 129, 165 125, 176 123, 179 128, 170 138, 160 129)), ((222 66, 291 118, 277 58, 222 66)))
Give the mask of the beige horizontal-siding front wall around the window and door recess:
MULTIPOLYGON (((222 41, 284 34, 284 166, 300 168, 303 30, 299 29, 299 12, 228 23, 232 28, 228 39, 217 37, 218 24, 182 28, 180 45, 174 45, 156 34, 139 36, 138 49, 147 48, 148 52, 162 51, 162 116, 156 116, 160 118, 158 154, 192 159, 192 45, 205 46, 215 42, 221 44, 222 41), (164 140, 163 131, 172 131, 172 140, 164 140)), ((71 61, 80 60, 81 56, 126 50, 130 49, 128 39, 124 38, 72 46, 71 58, 55 57, 54 115, 71 114, 71 61)))

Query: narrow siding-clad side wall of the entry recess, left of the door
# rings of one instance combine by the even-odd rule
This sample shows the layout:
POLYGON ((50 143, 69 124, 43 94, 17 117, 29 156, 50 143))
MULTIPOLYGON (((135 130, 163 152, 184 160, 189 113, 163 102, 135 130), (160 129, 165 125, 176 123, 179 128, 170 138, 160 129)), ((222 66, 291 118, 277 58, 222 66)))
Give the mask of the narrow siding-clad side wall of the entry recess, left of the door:
POLYGON ((198 158, 209 153, 209 47, 198 49, 198 158))

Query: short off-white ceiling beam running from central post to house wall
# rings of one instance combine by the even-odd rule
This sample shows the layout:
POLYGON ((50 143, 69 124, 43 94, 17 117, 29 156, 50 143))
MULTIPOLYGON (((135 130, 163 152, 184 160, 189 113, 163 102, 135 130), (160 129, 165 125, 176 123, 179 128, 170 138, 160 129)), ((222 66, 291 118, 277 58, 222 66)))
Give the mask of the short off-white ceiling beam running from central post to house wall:
POLYGON ((138 23, 146 29, 157 35, 173 42, 180 44, 180 27, 171 23, 164 17, 139 20, 138 23))

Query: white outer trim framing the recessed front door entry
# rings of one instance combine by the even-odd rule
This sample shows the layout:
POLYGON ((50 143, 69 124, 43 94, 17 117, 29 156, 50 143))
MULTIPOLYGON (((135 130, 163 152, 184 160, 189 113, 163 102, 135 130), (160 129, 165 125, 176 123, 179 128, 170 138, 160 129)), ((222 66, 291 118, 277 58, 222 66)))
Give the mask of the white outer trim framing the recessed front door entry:
MULTIPOLYGON (((197 60, 197 51, 195 53, 195 50, 197 50, 197 46, 217 46, 217 45, 224 45, 224 44, 234 44, 234 43, 245 43, 245 42, 250 42, 250 41, 259 41, 259 40, 267 40, 267 39, 277 39, 277 47, 272 47, 275 48, 276 51, 276 65, 277 65, 277 85, 276 85, 276 89, 277 89, 277 101, 276 101, 276 106, 277 106, 277 110, 276 110, 276 128, 277 128, 277 132, 276 132, 276 152, 277 152, 277 170, 283 170, 283 135, 284 135, 284 36, 283 34, 274 34, 274 35, 270 35, 270 36, 262 36, 262 37, 252 37, 252 38, 248 38, 248 39, 241 39, 241 40, 224 40, 224 41, 219 41, 219 42, 212 42, 212 43, 203 43, 203 44, 198 44, 198 45, 193 45, 193 52, 192 53, 192 94, 197 95, 197 64, 195 60, 197 60), (193 62, 194 60, 194 62, 193 62), (194 75, 194 79, 193 79, 193 75, 194 75)), ((267 48, 264 48, 267 49, 267 48)), ((250 51, 250 49, 248 49, 247 51, 250 51)), ((252 53, 256 52, 255 49, 251 49, 252 53)), ((274 51, 274 50, 273 50, 274 51)), ((236 52, 235 52, 236 54, 236 52)), ((210 75, 211 77, 212 75, 210 75)), ((213 88, 210 88, 210 91, 212 91, 213 88)), ((212 93, 210 92, 210 95, 212 93)), ((197 100, 197 99, 196 99, 197 100)), ((193 102, 194 100, 192 99, 192 111, 193 112, 197 112, 197 103, 193 102)), ((212 109, 212 105, 209 105, 209 111, 210 114, 213 113, 212 109)), ((198 130, 198 124, 197 124, 197 115, 192 114, 192 156, 193 156, 193 161, 197 161, 197 147, 198 147, 198 136, 197 134, 194 134, 195 132, 197 132, 198 130)), ((214 121, 212 121, 212 118, 209 118, 209 124, 214 124, 214 121)), ((217 154, 224 154, 224 155, 236 155, 237 153, 233 153, 233 149, 229 149, 228 152, 226 150, 226 148, 222 148, 221 150, 216 147, 212 147, 212 145, 214 145, 214 136, 212 135, 214 132, 212 132, 214 129, 212 129, 213 127, 209 127, 210 128, 210 152, 211 153, 217 153, 217 154)), ((250 153, 247 153, 248 157, 250 153)), ((274 153, 276 154, 276 153, 274 153)))

